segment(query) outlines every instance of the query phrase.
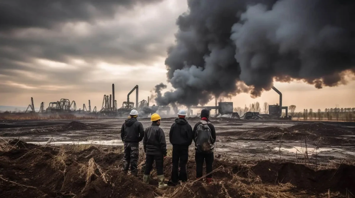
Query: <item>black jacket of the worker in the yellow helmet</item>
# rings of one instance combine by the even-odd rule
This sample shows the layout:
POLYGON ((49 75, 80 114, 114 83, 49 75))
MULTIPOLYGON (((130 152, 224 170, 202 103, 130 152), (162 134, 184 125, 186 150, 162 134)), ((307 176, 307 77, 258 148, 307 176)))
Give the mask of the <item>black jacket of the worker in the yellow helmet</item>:
POLYGON ((152 126, 146 128, 143 146, 147 155, 166 156, 165 134, 158 124, 152 123, 152 126))

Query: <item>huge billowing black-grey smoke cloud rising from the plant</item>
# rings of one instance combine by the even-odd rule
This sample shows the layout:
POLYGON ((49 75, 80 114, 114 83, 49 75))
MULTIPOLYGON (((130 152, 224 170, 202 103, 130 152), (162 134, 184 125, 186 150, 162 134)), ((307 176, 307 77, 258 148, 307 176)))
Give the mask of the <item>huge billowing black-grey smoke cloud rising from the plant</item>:
POLYGON ((258 97, 273 81, 338 86, 355 71, 355 2, 189 0, 168 49, 158 105, 206 104, 241 92, 258 97))

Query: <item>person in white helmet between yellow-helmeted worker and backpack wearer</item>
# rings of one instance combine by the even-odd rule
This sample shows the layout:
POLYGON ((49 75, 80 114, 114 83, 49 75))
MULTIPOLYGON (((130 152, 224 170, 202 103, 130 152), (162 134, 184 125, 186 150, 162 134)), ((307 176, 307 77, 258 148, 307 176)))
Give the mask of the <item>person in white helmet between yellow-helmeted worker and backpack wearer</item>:
POLYGON ((187 181, 186 164, 189 160, 189 146, 193 139, 192 127, 185 120, 185 110, 180 110, 178 116, 179 118, 175 119, 175 123, 171 125, 169 132, 169 140, 173 145, 173 166, 171 167, 171 180, 169 184, 173 186, 178 184, 179 181, 187 181))

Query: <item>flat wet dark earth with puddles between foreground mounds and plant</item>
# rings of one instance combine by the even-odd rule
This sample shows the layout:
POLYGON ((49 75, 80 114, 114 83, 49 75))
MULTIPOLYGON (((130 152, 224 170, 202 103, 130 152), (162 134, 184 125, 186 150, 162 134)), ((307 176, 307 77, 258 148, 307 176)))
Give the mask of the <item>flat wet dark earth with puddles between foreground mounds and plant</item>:
MULTIPOLYGON (((149 119, 138 119, 148 127, 149 119)), ((168 147, 169 129, 175 118, 163 118, 168 147)), ((193 127, 200 119, 187 118, 193 127)), ((33 144, 100 144, 121 146, 120 128, 124 119, 0 121, 0 137, 19 138, 33 144)), ((328 164, 355 161, 355 123, 244 121, 211 118, 216 129, 215 155, 235 160, 285 159, 293 162, 328 164), (308 153, 308 155, 305 155, 308 153), (306 156, 306 157, 305 157, 306 156)), ((193 145, 190 146, 193 149, 193 145)))

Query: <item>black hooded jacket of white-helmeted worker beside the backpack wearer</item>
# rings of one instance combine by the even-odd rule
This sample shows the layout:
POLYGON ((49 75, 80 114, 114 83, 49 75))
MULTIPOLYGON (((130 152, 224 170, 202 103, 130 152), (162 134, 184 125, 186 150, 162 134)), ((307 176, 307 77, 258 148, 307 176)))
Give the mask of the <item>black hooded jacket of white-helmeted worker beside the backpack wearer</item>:
POLYGON ((176 118, 171 125, 169 140, 173 146, 189 147, 193 139, 192 127, 184 118, 176 118))

